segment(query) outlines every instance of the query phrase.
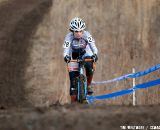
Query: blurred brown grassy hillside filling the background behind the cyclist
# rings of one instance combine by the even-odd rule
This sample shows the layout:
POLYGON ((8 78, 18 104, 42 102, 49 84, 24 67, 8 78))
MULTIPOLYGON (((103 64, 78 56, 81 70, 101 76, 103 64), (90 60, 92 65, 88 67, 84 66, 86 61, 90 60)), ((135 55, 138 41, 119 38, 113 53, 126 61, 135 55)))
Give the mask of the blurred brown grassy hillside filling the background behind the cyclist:
MULTIPOLYGON (((158 0, 1 0, 0 105, 69 103, 63 40, 71 18, 82 17, 96 40, 95 81, 144 70, 159 63, 158 0)), ((136 84, 158 78, 153 73, 136 84)), ((132 87, 132 80, 95 86, 96 95, 132 87), (113 87, 114 86, 114 87, 113 87)), ((159 104, 160 88, 136 92, 137 104, 159 104)), ((103 101, 131 104, 132 95, 103 101)))

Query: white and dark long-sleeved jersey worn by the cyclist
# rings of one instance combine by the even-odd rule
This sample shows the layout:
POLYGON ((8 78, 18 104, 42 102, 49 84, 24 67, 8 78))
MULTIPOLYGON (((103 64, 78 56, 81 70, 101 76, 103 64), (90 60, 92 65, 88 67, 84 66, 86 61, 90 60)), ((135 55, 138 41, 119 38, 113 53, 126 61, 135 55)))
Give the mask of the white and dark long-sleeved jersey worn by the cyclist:
POLYGON ((66 55, 72 56, 73 53, 83 54, 83 57, 92 56, 93 54, 98 53, 95 40, 88 31, 84 31, 83 36, 80 39, 76 39, 73 32, 68 33, 65 37, 63 47, 64 57, 66 55))

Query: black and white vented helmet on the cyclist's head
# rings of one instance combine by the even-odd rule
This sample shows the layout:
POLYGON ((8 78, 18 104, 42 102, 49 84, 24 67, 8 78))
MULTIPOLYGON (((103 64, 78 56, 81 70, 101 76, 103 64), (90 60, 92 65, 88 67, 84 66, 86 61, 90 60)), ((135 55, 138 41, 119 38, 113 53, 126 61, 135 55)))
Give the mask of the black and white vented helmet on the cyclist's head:
POLYGON ((82 31, 86 28, 85 22, 78 17, 73 18, 69 26, 71 31, 82 31))

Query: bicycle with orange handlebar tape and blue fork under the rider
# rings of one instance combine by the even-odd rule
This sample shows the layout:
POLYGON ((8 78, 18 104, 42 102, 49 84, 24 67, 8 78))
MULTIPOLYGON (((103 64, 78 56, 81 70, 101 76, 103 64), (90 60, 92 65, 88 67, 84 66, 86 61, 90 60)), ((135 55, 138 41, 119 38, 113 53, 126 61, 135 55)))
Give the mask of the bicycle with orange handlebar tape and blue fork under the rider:
MULTIPOLYGON (((84 64, 85 62, 91 62, 93 59, 82 59, 78 58, 77 60, 71 60, 70 63, 77 63, 76 67, 74 67, 74 71, 79 71, 79 75, 74 79, 74 85, 76 86, 76 96, 77 102, 79 103, 87 103, 87 78, 84 74, 84 64)), ((68 66, 68 70, 69 70, 68 66)))

